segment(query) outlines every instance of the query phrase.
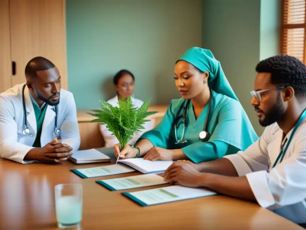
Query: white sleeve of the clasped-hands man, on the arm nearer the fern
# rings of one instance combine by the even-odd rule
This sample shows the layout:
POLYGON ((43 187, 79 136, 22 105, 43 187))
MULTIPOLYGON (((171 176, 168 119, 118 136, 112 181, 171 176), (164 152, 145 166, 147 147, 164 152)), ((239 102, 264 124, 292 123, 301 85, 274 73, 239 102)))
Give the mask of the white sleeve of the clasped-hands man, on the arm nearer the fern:
POLYGON ((64 121, 61 125, 61 142, 68 144, 73 150, 80 148, 80 130, 76 116, 76 103, 73 94, 70 94, 64 121))

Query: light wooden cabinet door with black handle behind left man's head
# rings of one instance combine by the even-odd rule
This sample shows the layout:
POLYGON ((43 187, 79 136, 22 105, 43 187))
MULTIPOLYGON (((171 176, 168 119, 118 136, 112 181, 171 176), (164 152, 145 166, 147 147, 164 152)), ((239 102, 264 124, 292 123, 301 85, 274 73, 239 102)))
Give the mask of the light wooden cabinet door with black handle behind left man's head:
POLYGON ((64 0, 9 0, 11 54, 16 62, 12 85, 25 82, 24 68, 35 56, 53 62, 67 89, 64 0))

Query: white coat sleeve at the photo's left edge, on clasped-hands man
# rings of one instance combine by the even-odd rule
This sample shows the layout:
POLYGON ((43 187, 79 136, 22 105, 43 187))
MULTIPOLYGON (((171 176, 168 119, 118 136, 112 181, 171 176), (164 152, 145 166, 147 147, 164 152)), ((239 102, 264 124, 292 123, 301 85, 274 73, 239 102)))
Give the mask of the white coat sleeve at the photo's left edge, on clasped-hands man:
POLYGON ((2 158, 13 160, 22 164, 32 163, 24 161, 32 146, 17 142, 17 123, 14 120, 13 102, 4 95, 0 95, 0 155, 2 158))

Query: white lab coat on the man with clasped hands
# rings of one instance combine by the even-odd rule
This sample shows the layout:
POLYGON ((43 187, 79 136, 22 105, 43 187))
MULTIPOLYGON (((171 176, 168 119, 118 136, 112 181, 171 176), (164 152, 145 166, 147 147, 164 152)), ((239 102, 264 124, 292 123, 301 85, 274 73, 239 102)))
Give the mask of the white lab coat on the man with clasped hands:
MULTIPOLYGON (((24 156, 33 147, 36 138, 36 118, 28 87, 24 89, 27 122, 30 134, 24 135, 24 110, 22 106, 22 87, 16 85, 0 94, 0 156, 2 158, 17 161, 19 163, 31 163, 24 161, 24 156)), ((61 89, 60 102, 58 104, 58 127, 60 136, 54 134, 55 112, 53 106, 47 105, 43 120, 40 143, 43 147, 50 141, 62 139, 62 143, 70 145, 73 150, 80 146, 80 132, 76 117, 76 104, 73 94, 61 89)))

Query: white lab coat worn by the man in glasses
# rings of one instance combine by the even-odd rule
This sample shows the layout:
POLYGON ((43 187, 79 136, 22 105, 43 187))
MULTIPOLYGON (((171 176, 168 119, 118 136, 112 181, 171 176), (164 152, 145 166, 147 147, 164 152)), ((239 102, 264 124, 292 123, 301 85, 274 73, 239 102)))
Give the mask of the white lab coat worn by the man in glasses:
MULTIPOLYGON (((227 155, 239 176, 246 176, 263 208, 297 224, 306 223, 306 119, 297 128, 282 163, 274 167, 286 138, 277 123, 267 126, 262 136, 244 152, 227 155), (268 170, 268 156, 271 169, 268 170)), ((285 143, 287 144, 287 143, 285 143)))

